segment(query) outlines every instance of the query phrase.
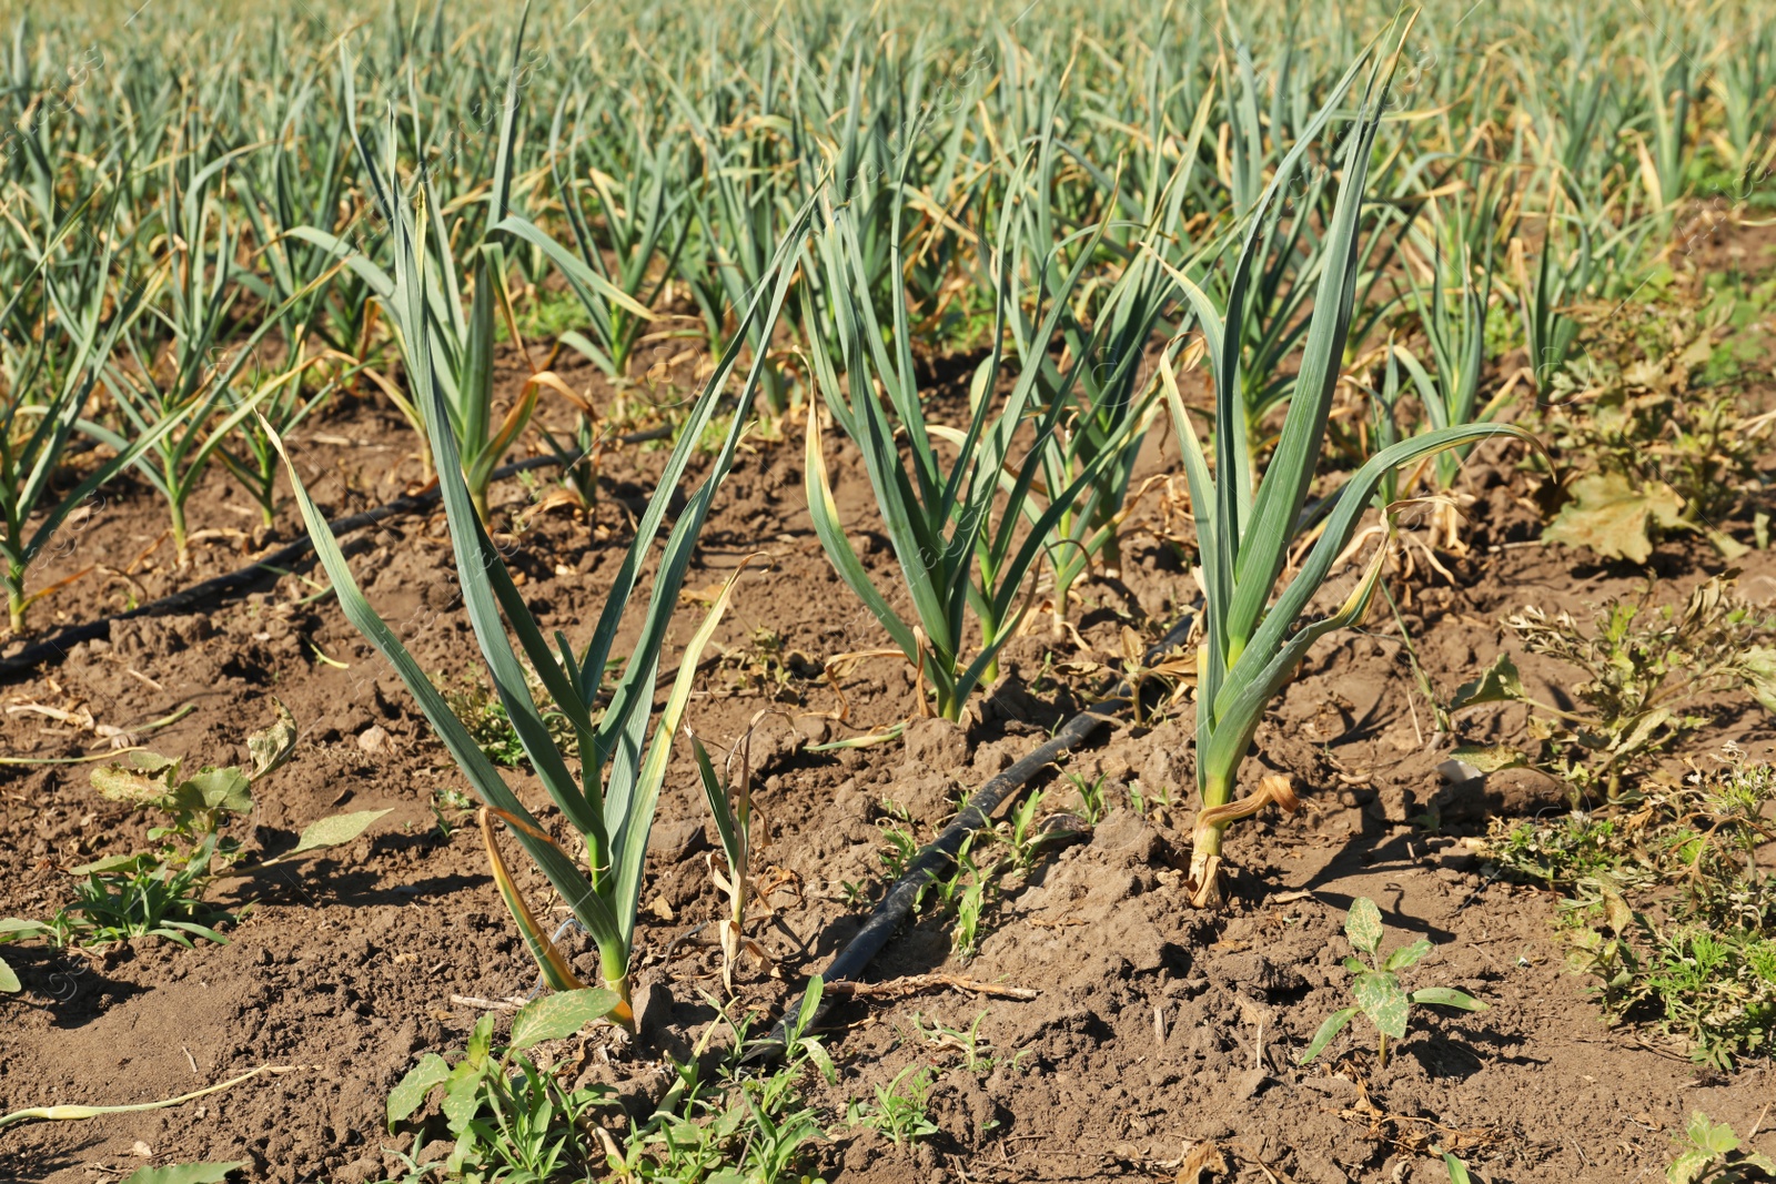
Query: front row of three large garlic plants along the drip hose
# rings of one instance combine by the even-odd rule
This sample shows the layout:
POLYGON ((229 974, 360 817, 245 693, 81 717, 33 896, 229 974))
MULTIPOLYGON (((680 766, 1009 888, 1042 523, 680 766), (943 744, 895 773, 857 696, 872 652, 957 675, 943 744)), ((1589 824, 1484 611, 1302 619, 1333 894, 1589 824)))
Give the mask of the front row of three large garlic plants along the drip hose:
MULTIPOLYGON (((1050 247, 1034 264, 1043 288, 1037 304, 1039 321, 1019 332, 1005 327, 1011 309, 1018 304, 1011 277, 1027 270, 1019 259, 1019 217, 1000 220, 1000 240, 993 256, 998 282, 995 346, 977 367, 970 387, 970 417, 966 430, 940 433, 927 421, 927 407, 920 398, 916 360, 908 332, 908 305, 900 268, 900 236, 892 238, 890 277, 895 284, 893 318, 877 320, 867 284, 870 252, 863 245, 858 218, 849 208, 822 211, 822 229, 813 234, 813 254, 824 268, 826 282, 819 295, 805 289, 803 309, 806 337, 813 348, 813 367, 824 408, 860 446, 865 467, 881 502, 888 533, 908 577, 916 623, 893 612, 874 586, 838 520, 831 490, 824 478, 824 453, 819 437, 819 414, 808 421, 808 493, 813 524, 828 556, 845 582, 876 612, 890 635, 906 650, 908 659, 932 682, 936 706, 955 717, 971 689, 993 676, 998 646, 1018 623, 1023 605, 1025 575, 1043 554, 1050 527, 1062 511, 1074 504, 1090 479, 1110 465, 1122 438, 1142 422, 1122 415, 1106 433, 1105 447, 1080 465, 1078 476, 1064 490, 1050 488, 1046 508, 1028 531, 1019 529, 1023 501, 1037 474, 1048 440, 1055 437, 1062 417, 1074 407, 1074 383, 1080 371, 1099 369, 1096 391, 1087 392, 1087 412, 1101 408, 1103 391, 1128 391, 1121 382, 1124 367, 1131 367, 1146 351, 1147 332, 1124 332, 1122 309, 1135 307, 1135 320, 1156 318, 1163 300, 1160 293, 1183 291, 1192 314, 1201 321, 1209 341, 1209 355, 1217 373, 1217 417, 1227 415, 1238 399, 1236 357, 1241 350, 1243 321, 1238 300, 1252 272, 1256 250, 1265 241, 1265 213, 1279 188, 1293 176, 1307 147, 1332 122, 1339 101, 1360 67, 1368 64, 1366 51, 1350 67, 1344 80, 1304 130, 1304 138, 1284 158, 1282 167, 1266 186, 1257 206, 1247 218, 1238 256, 1233 261, 1229 289, 1234 304, 1227 320, 1220 318, 1213 300, 1154 245, 1163 222, 1144 227, 1140 257, 1124 270, 1117 288, 1106 296, 1105 316, 1099 316, 1083 344, 1069 341, 1074 353, 1060 371, 1035 360, 1048 353, 1048 343, 1066 339, 1062 320, 1071 307, 1074 291, 1087 273, 1094 241, 1083 243, 1076 259, 1067 264, 1058 247, 1050 247), (1153 263, 1153 266, 1147 266, 1153 263), (1169 277, 1163 282, 1160 275, 1169 277), (828 353, 826 341, 838 343, 828 353), (1003 343, 1016 341, 1025 364, 1016 375, 1005 367, 1003 343), (1106 373, 1106 376, 1105 376, 1106 373), (844 375, 844 380, 840 380, 844 375), (1002 392, 1002 382, 1009 392, 1002 392), (1053 383, 1053 389, 1044 389, 1053 383), (876 398, 881 387, 884 399, 876 398), (1025 430, 1034 422, 1034 438, 1025 430), (902 458, 897 437, 906 433, 909 456, 902 458), (936 440, 954 446, 954 454, 943 458, 936 440), (1002 495, 1005 472, 1016 474, 1002 495), (973 614, 980 644, 977 653, 964 655, 964 616, 973 614)), ((1250 451, 1247 431, 1217 435, 1217 470, 1209 476, 1201 446, 1188 426, 1188 412, 1169 387, 1172 414, 1179 438, 1186 446, 1186 472, 1197 504, 1197 522, 1208 572, 1208 643, 1202 650, 1202 698, 1199 706, 1199 767, 1202 781, 1204 824, 1199 825, 1197 847, 1202 861, 1199 902, 1215 898, 1218 836, 1229 815, 1227 799, 1238 772, 1240 758, 1250 742, 1252 730, 1265 703, 1298 664, 1305 646, 1323 632, 1348 623, 1360 612, 1366 595, 1373 589, 1378 566, 1371 566, 1359 595, 1330 618, 1289 634, 1289 625, 1307 607, 1318 586, 1330 575, 1330 564, 1366 508, 1369 492, 1382 474, 1391 472, 1417 456, 1462 442, 1518 431, 1497 426, 1455 426, 1396 446, 1366 463, 1344 490, 1330 527, 1312 550, 1305 570, 1289 582, 1284 598, 1273 611, 1270 584, 1282 570, 1282 561, 1295 538, 1302 502, 1320 463, 1320 437, 1330 412, 1332 391, 1337 385, 1337 357, 1343 351, 1350 325, 1360 206, 1368 160, 1375 131, 1380 126, 1376 103, 1385 94, 1394 59, 1371 64, 1369 82, 1357 117, 1357 135, 1346 137, 1343 149, 1343 181, 1327 227, 1330 264, 1321 268, 1314 300, 1312 325, 1305 334, 1300 380, 1289 399, 1289 415, 1282 444, 1257 479, 1257 463, 1250 451), (1213 506, 1213 509, 1211 509, 1213 506), (1245 568, 1241 570, 1241 564, 1245 568), (1227 699, 1227 701, 1224 701, 1227 699), (1211 822, 1213 820, 1213 822, 1211 822)), ((547 236, 519 213, 506 213, 511 192, 510 147, 519 103, 517 71, 508 89, 506 112, 501 124, 496 172, 487 201, 490 215, 499 217, 487 229, 487 238, 474 250, 488 252, 494 240, 511 236, 542 245, 552 259, 570 273, 590 270, 575 256, 551 243, 547 236)), ((391 114, 392 119, 392 114, 391 114)), ((1181 174, 1167 181, 1167 188, 1181 183, 1181 174)), ((396 270, 387 291, 378 282, 378 298, 391 305, 391 316, 401 327, 403 350, 408 364, 412 394, 424 405, 428 424, 442 424, 453 412, 456 391, 449 380, 449 350, 435 350, 435 337, 448 337, 448 316, 435 311, 440 280, 432 275, 449 264, 442 249, 432 247, 432 209, 435 199, 423 174, 401 186, 392 174, 385 178, 384 213, 394 231, 396 270)), ((757 291, 744 309, 742 323, 757 325, 769 337, 790 288, 792 263, 803 249, 803 227, 813 213, 813 202, 803 208, 796 224, 773 250, 767 279, 771 284, 757 291), (769 293, 769 298, 767 298, 769 293)), ((895 224, 902 213, 895 202, 895 224)), ((1034 211, 1039 213, 1039 211, 1034 211)), ((1101 236, 1110 218, 1099 222, 1094 234, 1101 236)), ((446 300, 448 309, 455 304, 446 300)), ((1021 312, 1018 312, 1021 316, 1021 312)), ((1147 321, 1142 321, 1144 325, 1147 321)), ((634 1028, 630 1003, 630 964, 634 928, 639 909, 646 838, 664 783, 671 746, 677 738, 682 714, 689 701, 698 655, 712 635, 732 593, 737 573, 728 579, 714 607, 686 644, 678 675, 655 714, 655 683, 659 662, 677 607, 678 589, 691 564, 698 533, 710 513, 716 492, 726 476, 751 414, 755 394, 769 366, 769 353, 753 348, 748 378, 739 394, 739 407, 725 431, 721 451, 702 485, 691 495, 686 509, 664 540, 659 568, 645 607, 639 641, 623 662, 616 689, 606 698, 602 671, 616 643, 618 628, 629 609, 643 564, 662 529, 666 506, 677 492, 687 469, 691 449, 712 422, 718 398, 733 373, 742 344, 749 334, 735 334, 723 353, 716 375, 698 396, 691 422, 680 435, 666 470, 655 486, 629 554, 609 589, 606 609, 591 637, 577 646, 565 632, 556 632, 554 643, 545 637, 542 623, 526 605, 522 593, 504 566, 504 557, 492 543, 483 525, 485 506, 476 502, 474 488, 465 479, 472 470, 456 447, 451 431, 430 431, 435 453, 435 470, 444 492, 451 543, 456 556, 458 580, 467 614, 480 643, 488 675, 501 703, 513 721, 529 767, 535 770, 567 824, 577 833, 584 857, 563 850, 543 824, 513 795, 499 770, 474 744, 467 726, 426 678, 423 667, 405 650, 400 635, 389 628, 359 591, 352 570, 329 533, 316 504, 302 488, 297 469, 289 467, 297 501, 311 536, 316 541, 321 564, 339 596, 346 618, 364 632, 408 685, 423 712, 456 758, 471 786, 483 801, 483 831, 496 882, 536 957, 543 978, 554 989, 581 989, 583 982, 570 960, 552 944, 538 923, 517 877, 510 873, 496 838, 496 820, 533 857, 547 882, 572 909, 575 920, 591 934, 599 946, 600 975, 609 991, 607 1008, 614 1022, 634 1028), (513 637, 517 646, 513 646, 513 637), (522 651, 522 659, 520 659, 522 651), (526 666, 529 669, 526 669, 526 666), (551 733, 542 708, 529 691, 529 671, 549 691, 554 706, 574 730, 574 751, 579 772, 551 733)), ((448 343, 446 343, 448 344, 448 343)), ((1167 362, 1169 364, 1169 362, 1167 362)), ((1169 369, 1162 373, 1169 375, 1169 369)), ((1522 435, 1522 433, 1520 433, 1522 435)), ((712 777, 705 765, 705 788, 712 777)), ((714 801, 714 793, 712 793, 714 801)), ((718 820, 723 815, 718 811, 718 820)), ((748 868, 730 868, 735 882, 742 882, 748 868)), ((739 923, 739 921, 737 921, 739 923)))

